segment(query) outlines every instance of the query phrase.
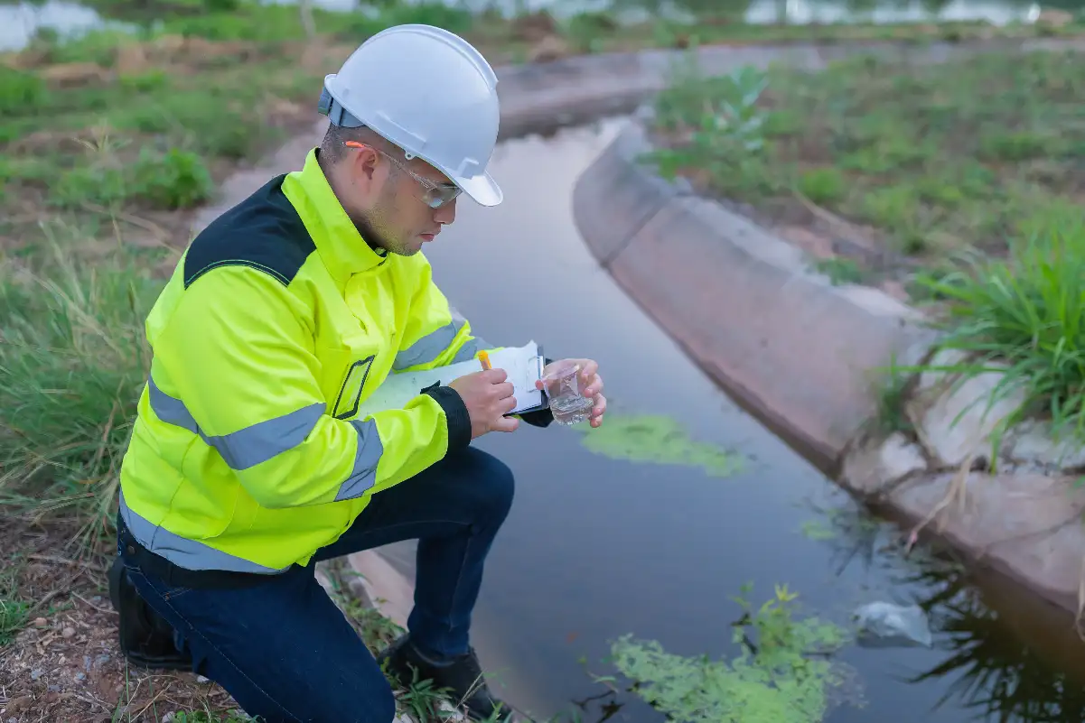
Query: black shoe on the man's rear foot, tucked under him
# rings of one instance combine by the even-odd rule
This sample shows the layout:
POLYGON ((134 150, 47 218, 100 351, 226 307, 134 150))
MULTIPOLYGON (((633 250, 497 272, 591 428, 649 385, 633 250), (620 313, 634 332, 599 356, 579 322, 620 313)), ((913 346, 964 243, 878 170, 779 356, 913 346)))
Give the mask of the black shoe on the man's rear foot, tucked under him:
POLYGON ((192 670, 192 656, 174 643, 174 629, 148 605, 128 579, 120 558, 110 568, 110 601, 120 615, 120 651, 128 661, 151 670, 192 670))

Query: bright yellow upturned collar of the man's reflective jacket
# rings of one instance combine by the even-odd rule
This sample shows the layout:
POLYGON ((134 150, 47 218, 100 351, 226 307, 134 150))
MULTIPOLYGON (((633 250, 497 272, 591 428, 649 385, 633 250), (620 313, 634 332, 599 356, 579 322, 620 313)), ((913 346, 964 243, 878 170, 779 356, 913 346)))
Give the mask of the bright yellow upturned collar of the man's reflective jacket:
POLYGON ((350 274, 384 263, 387 251, 370 248, 358 233, 317 163, 317 151, 309 151, 302 170, 286 175, 282 192, 301 216, 324 266, 343 283, 350 274))

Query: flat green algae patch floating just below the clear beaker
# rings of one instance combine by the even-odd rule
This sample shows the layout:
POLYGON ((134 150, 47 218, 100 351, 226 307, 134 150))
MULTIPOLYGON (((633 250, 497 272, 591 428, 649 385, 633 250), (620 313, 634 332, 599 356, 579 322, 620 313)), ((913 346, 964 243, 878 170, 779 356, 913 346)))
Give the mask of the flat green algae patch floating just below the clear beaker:
POLYGON ((584 446, 614 460, 690 465, 713 477, 727 477, 742 468, 740 454, 690 439, 677 422, 664 415, 608 413, 597 429, 587 425, 570 429, 587 432, 582 437, 584 446))

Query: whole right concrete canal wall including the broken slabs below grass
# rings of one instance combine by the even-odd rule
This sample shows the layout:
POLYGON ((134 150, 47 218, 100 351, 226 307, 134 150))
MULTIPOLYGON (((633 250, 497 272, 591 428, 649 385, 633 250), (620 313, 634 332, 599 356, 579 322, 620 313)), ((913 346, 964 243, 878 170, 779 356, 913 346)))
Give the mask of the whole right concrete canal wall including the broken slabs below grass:
MULTIPOLYGON (((929 439, 869 437, 872 372, 918 363, 936 340, 921 314, 877 289, 833 286, 797 247, 659 177, 640 162, 651 147, 635 119, 577 180, 574 221, 600 264, 740 405, 845 489, 1078 614, 1085 493, 1065 474, 1036 455, 998 475, 969 472, 973 457, 947 461, 929 439)), ((954 404, 947 396, 910 400, 909 416, 944 425, 931 417, 954 404)))

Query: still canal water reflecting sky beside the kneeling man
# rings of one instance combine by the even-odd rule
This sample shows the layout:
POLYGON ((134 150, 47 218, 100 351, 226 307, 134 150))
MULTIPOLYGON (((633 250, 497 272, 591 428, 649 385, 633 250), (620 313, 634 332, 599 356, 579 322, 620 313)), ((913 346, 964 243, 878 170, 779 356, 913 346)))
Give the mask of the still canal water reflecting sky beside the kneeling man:
MULTIPOLYGON (((739 411, 596 266, 573 224, 570 189, 621 122, 503 144, 493 172, 505 203, 463 203, 426 248, 437 283, 490 341, 534 338, 551 357, 598 360, 608 426, 669 419, 704 446, 633 438, 595 452, 584 442, 602 430, 527 426, 480 440, 518 476, 475 618, 501 694, 539 715, 604 694, 578 659, 610 674, 599 661, 630 632, 681 655, 730 655, 739 616, 730 596, 753 581, 755 604, 786 583, 808 612, 838 622, 871 601, 929 608, 935 649, 844 650, 866 705, 828 721, 1085 720, 1085 649, 1065 616, 947 563, 902 559, 895 528, 856 512, 739 411), (680 449, 694 450, 690 464, 652 461, 680 449), (720 456, 712 450, 741 454, 742 472, 711 474, 720 456)), ((386 552, 410 570, 409 546, 386 552)), ((585 703, 584 720, 614 705, 612 720, 662 720, 631 694, 585 703)))

